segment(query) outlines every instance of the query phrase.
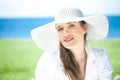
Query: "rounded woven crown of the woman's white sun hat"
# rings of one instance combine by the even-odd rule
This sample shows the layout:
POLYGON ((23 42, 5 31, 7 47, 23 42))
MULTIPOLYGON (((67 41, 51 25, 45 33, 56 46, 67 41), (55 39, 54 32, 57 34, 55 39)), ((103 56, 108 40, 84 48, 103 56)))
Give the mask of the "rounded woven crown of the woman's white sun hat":
POLYGON ((65 17, 83 17, 82 12, 78 8, 63 8, 56 15, 55 19, 65 17))

